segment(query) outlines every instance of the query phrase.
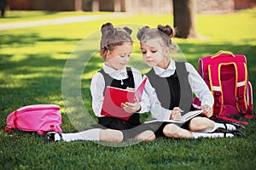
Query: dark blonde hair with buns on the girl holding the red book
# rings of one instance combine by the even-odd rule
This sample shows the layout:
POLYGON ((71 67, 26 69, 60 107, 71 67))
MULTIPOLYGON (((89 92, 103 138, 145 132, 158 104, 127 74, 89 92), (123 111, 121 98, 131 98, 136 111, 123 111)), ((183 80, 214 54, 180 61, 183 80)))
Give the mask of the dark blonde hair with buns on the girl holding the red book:
POLYGON ((131 42, 131 29, 128 27, 114 28, 111 23, 102 25, 101 55, 106 59, 108 51, 114 47, 123 45, 125 42, 131 42))

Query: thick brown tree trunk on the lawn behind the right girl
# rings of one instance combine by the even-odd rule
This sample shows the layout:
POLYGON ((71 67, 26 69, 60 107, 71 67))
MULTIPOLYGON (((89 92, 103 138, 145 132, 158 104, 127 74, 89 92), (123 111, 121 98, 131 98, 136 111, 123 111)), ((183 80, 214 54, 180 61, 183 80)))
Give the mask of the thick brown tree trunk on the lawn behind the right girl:
POLYGON ((190 38, 199 37, 195 28, 196 1, 195 0, 172 0, 173 22, 176 29, 176 37, 190 38))

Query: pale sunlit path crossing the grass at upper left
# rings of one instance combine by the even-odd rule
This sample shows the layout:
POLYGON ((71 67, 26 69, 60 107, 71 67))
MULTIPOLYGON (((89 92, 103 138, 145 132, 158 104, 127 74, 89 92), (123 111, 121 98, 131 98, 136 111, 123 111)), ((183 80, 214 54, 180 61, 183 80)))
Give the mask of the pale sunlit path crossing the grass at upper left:
POLYGON ((129 17, 131 14, 101 14, 101 15, 86 15, 86 16, 74 16, 74 17, 66 17, 60 19, 52 19, 52 20, 36 20, 36 21, 27 21, 27 22, 13 22, 7 24, 0 24, 0 30, 9 30, 9 29, 18 29, 18 28, 26 28, 33 26, 53 26, 59 24, 67 24, 73 22, 87 22, 91 20, 106 20, 106 19, 117 19, 129 17))

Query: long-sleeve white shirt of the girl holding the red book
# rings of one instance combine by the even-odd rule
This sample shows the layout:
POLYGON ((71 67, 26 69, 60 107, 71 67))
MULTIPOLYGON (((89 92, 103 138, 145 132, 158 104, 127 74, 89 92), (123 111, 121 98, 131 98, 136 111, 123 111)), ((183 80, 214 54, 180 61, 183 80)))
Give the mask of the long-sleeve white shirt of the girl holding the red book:
MULTIPOLYGON (((126 68, 122 70, 114 70, 113 68, 109 67, 105 63, 103 64, 103 70, 113 79, 116 80, 124 80, 128 78, 126 68)), ((135 88, 142 82, 142 74, 137 69, 131 68, 135 88)), ((102 73, 97 72, 90 82, 90 93, 92 97, 92 110, 94 111, 97 117, 102 117, 102 103, 104 99, 104 88, 105 88, 105 81, 102 73)), ((143 93, 142 101, 140 102, 141 110, 139 113, 144 113, 149 111, 148 99, 145 97, 146 94, 143 93)))

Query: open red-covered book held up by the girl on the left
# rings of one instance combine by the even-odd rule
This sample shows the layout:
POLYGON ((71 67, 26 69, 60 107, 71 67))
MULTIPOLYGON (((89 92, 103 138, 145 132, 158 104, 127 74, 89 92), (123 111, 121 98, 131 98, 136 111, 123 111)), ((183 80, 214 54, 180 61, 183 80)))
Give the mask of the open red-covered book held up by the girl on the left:
POLYGON ((103 99, 102 116, 118 117, 127 121, 131 115, 124 111, 121 104, 125 104, 125 102, 133 103, 135 101, 135 96, 141 101, 146 81, 147 77, 145 77, 134 90, 108 86, 103 99))

